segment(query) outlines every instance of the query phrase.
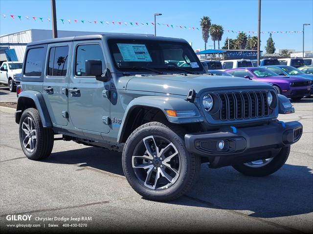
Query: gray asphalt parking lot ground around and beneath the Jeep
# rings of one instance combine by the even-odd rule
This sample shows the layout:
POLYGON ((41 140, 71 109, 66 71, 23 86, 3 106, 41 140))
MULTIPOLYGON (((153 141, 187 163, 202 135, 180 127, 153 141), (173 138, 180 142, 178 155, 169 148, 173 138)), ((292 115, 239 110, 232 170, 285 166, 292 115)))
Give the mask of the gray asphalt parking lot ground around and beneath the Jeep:
MULTIPOLYGON (((2 87, 1 101, 7 96, 2 87)), ((120 153, 55 141, 49 158, 28 160, 19 143, 14 109, 0 107, 1 230, 16 230, 7 227, 17 224, 7 221, 7 215, 33 215, 92 219, 80 221, 88 224, 84 228, 62 227, 63 221, 20 222, 40 224, 38 230, 45 224, 48 232, 312 233, 313 98, 293 105, 296 113, 279 119, 300 121, 304 133, 282 169, 254 178, 231 167, 210 170, 202 164, 195 187, 166 203, 144 200, 134 192, 123 176, 120 153)))

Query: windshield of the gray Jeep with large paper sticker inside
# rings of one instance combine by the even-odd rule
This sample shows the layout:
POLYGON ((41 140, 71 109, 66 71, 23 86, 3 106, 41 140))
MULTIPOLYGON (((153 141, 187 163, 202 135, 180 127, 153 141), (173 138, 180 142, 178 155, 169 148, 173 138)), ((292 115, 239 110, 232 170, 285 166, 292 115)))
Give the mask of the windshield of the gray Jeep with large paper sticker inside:
POLYGON ((161 40, 110 39, 108 41, 115 67, 120 71, 203 72, 195 52, 188 43, 161 40), (142 69, 140 69, 140 67, 142 69))

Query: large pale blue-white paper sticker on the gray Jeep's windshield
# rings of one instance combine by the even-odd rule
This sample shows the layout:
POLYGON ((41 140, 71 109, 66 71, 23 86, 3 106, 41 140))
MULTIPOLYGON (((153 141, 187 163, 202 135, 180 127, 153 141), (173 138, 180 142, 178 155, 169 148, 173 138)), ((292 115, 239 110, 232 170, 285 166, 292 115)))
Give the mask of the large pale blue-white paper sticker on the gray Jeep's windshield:
POLYGON ((152 62, 145 44, 124 44, 117 43, 117 47, 122 54, 124 61, 131 62, 152 62))

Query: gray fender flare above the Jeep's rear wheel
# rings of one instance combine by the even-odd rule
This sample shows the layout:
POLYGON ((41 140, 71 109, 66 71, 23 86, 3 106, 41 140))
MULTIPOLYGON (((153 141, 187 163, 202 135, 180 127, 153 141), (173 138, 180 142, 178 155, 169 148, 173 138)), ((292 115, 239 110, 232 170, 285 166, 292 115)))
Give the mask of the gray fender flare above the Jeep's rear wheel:
MULTIPOLYGON (((39 113, 43 127, 44 128, 51 128, 53 125, 52 125, 51 118, 49 116, 48 109, 45 105, 45 99, 44 99, 42 93, 40 93, 38 91, 34 91, 34 90, 26 90, 26 91, 22 91, 20 93, 19 98, 18 98, 16 113, 15 113, 15 122, 20 123, 22 112, 24 111, 23 102, 26 98, 32 99, 33 102, 35 103, 35 106, 36 106, 36 109, 39 113)), ((26 107, 27 107, 27 105, 26 105, 26 107)))

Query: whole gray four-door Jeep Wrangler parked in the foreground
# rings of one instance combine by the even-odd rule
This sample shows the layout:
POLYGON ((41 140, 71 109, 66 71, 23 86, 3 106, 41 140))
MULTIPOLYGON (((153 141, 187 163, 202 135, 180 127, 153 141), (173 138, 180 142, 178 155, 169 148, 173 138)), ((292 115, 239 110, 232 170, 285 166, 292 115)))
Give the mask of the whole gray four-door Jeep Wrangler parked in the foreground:
POLYGON ((57 134, 120 151, 128 182, 152 200, 186 193, 204 162, 268 176, 302 135, 301 123, 278 121, 294 109, 271 85, 206 74, 183 39, 103 34, 32 42, 19 88, 16 122, 29 159, 48 157, 57 134))

